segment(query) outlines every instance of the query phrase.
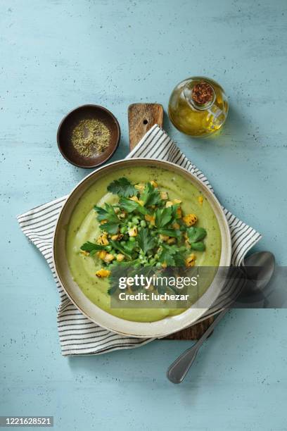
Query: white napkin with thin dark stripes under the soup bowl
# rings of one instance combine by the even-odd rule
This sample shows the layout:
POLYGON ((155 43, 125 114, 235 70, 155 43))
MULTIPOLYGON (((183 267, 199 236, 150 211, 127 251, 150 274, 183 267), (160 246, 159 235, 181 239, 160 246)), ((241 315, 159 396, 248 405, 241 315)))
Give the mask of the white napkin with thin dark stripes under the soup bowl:
MULTIPOLYGON (((196 168, 196 165, 193 165, 193 163, 186 158, 167 133, 158 125, 154 125, 151 130, 148 130, 139 144, 127 156, 127 158, 139 157, 158 158, 160 160, 177 163, 178 165, 181 165, 182 168, 185 168, 196 175, 210 188, 210 190, 212 190, 212 187, 205 175, 196 168)), ((118 335, 96 325, 91 322, 91 320, 83 316, 74 304, 72 304, 62 287, 60 287, 55 269, 53 268, 52 242, 58 214, 67 197, 68 196, 63 196, 62 198, 51 201, 48 204, 32 208, 32 210, 18 215, 17 217, 23 233, 30 239, 37 249, 41 251, 49 264, 58 287, 60 294, 60 306, 58 307, 58 332, 62 354, 64 356, 78 354, 103 354, 117 349, 129 349, 141 346, 142 344, 153 341, 151 338, 138 339, 118 335)), ((261 235, 256 232, 253 227, 245 225, 245 223, 236 218, 235 215, 229 213, 227 209, 223 209, 227 216, 231 232, 231 262, 234 266, 240 266, 245 254, 260 240, 261 235)), ((229 283, 227 287, 224 288, 224 292, 219 295, 216 303, 212 308, 210 308, 208 313, 205 313, 205 316, 200 318, 200 320, 213 316, 221 311, 222 308, 228 306, 227 302, 230 302, 230 297, 232 296, 231 290, 233 288, 232 283, 229 283)))

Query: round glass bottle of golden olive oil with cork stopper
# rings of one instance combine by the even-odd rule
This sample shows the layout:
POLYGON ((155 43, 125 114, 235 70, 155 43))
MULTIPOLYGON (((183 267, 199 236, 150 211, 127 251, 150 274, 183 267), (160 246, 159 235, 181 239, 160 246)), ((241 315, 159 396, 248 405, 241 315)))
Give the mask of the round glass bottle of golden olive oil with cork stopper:
POLYGON ((225 123, 227 96, 217 82, 190 77, 174 88, 168 106, 170 120, 178 130, 193 137, 207 137, 225 123))

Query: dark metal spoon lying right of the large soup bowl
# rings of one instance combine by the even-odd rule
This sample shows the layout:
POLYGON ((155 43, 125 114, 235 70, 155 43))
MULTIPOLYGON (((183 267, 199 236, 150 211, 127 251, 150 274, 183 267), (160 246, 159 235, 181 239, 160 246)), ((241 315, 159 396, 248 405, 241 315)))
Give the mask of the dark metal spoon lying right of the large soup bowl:
MULTIPOLYGON (((252 280, 252 283, 248 285, 248 291, 249 289, 252 291, 251 293, 258 292, 259 290, 262 291, 269 283, 272 274, 274 273, 274 254, 269 251, 259 251, 257 253, 251 254, 244 259, 243 267, 247 279, 252 280)), ((196 358, 200 346, 203 344, 205 339, 207 339, 208 335, 210 335, 214 330, 217 323, 222 320, 229 309, 230 308, 226 308, 224 311, 221 311, 215 321, 202 335, 202 337, 198 339, 198 342, 193 344, 190 349, 184 351, 184 353, 181 354, 167 369, 167 378, 172 383, 181 383, 182 380, 184 380, 184 377, 188 373, 189 368, 191 368, 191 365, 196 358)))

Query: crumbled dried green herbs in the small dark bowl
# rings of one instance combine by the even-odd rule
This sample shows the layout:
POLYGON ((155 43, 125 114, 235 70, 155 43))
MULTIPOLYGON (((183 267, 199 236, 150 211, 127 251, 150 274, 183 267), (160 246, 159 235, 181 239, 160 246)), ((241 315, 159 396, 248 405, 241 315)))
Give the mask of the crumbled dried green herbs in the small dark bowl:
POLYGON ((87 118, 79 121, 72 131, 72 146, 85 157, 101 154, 108 148, 110 130, 96 118, 87 118))

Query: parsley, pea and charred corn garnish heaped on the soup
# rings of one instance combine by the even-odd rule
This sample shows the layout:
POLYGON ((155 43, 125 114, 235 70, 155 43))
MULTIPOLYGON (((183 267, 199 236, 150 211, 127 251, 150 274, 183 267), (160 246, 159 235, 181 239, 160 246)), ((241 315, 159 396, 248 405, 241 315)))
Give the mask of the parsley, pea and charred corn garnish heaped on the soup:
POLYGON ((205 250, 207 232, 193 226, 196 215, 184 215, 179 199, 170 201, 155 181, 134 185, 126 177, 111 182, 108 191, 117 194, 118 202, 94 207, 101 245, 86 242, 81 247, 90 256, 96 254, 107 273, 113 268, 138 271, 195 265, 192 251, 205 250))

